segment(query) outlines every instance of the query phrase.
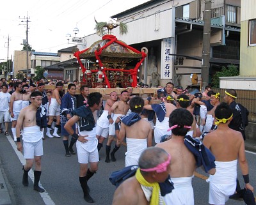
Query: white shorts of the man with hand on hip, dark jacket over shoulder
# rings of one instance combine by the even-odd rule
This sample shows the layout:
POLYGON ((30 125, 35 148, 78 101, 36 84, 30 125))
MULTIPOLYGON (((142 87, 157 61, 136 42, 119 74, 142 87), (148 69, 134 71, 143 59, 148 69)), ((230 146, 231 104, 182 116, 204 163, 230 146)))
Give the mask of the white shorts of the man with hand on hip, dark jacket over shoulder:
POLYGON ((76 143, 76 150, 79 163, 99 162, 99 152, 97 148, 89 153, 80 143, 76 143))

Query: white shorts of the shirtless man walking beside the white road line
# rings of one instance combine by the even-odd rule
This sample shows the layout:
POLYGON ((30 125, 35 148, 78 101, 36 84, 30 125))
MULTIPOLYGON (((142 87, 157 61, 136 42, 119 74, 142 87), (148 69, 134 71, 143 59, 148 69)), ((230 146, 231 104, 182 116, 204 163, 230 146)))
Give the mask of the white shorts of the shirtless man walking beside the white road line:
POLYGON ((23 155, 24 159, 33 159, 35 156, 44 155, 42 138, 38 142, 23 141, 23 155))

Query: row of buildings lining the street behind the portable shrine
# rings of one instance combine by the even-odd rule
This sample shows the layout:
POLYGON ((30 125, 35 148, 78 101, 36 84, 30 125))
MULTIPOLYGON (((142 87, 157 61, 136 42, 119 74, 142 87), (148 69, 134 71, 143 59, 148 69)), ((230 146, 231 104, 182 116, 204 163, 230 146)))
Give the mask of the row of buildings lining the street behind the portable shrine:
MULTIPOLYGON (((254 85, 252 76, 256 76, 256 69, 252 56, 255 54, 256 45, 254 27, 256 16, 252 8, 255 4, 253 0, 212 2, 210 82, 212 75, 221 70, 221 66, 234 64, 240 68, 241 81, 246 80, 254 85), (252 69, 248 69, 251 65, 252 69)), ((148 84, 153 71, 159 73, 161 86, 172 81, 175 86, 186 87, 191 84, 192 73, 197 73, 200 79, 204 1, 151 0, 111 18, 124 22, 129 28, 126 35, 121 36, 118 29, 114 29, 113 35, 137 50, 141 48, 148 50, 145 65, 141 66, 138 76, 140 81, 148 84)), ((90 47, 100 38, 97 34, 85 36, 86 47, 90 47)), ((72 55, 77 47, 80 50, 84 49, 77 45, 58 50, 58 53, 31 52, 29 55, 31 74, 35 73, 36 66, 42 66, 48 70, 49 79, 70 81, 81 79, 81 69, 72 55)), ((15 74, 24 72, 25 62, 26 52, 15 51, 13 62, 15 74)), ((228 81, 230 79, 223 79, 221 85, 227 85, 228 81)), ((241 86, 243 88, 243 85, 241 86)))

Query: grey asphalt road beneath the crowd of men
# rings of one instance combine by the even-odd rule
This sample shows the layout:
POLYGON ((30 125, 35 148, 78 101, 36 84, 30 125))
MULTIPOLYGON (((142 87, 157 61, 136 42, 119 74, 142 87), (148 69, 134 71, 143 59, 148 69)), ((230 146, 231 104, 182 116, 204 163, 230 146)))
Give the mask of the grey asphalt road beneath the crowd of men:
MULTIPOLYGON (((111 204, 115 186, 108 180, 109 174, 124 167, 125 147, 122 146, 116 156, 117 161, 111 163, 104 162, 104 147, 100 151, 99 171, 88 185, 91 188, 91 195, 97 204, 111 204)), ((250 164, 250 180, 256 188, 256 158, 255 153, 246 153, 250 164)), ((44 194, 33 191, 33 182, 29 180, 29 187, 24 187, 22 181, 22 159, 21 153, 16 151, 15 142, 12 137, 0 134, 0 167, 2 169, 12 204, 87 204, 83 199, 83 192, 79 184, 79 164, 77 156, 65 157, 65 151, 61 139, 44 140, 44 157, 42 158, 41 183, 45 188, 44 194), (17 155, 18 153, 18 155, 17 155), (21 162, 20 162, 21 161, 21 162)), ((198 169, 200 174, 204 174, 198 169)), ((205 175, 205 174, 204 174, 205 175)), ((29 173, 33 177, 33 172, 29 173)), ((239 172, 241 179, 241 173, 239 172)), ((243 181, 241 179, 241 181, 243 181)), ((195 192, 195 204, 207 204, 209 185, 204 179, 195 177, 193 188, 195 192)), ((229 200, 227 204, 244 204, 241 201, 229 200)))

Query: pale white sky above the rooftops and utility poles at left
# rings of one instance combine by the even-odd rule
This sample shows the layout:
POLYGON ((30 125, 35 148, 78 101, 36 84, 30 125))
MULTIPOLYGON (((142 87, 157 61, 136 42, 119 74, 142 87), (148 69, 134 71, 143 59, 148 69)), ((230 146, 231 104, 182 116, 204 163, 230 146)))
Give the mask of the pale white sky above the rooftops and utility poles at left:
POLYGON ((108 22, 112 15, 149 0, 8 0, 0 11, 0 61, 7 60, 14 50, 22 50, 26 39, 26 17, 29 18, 28 43, 38 52, 58 52, 73 45, 66 34, 78 37, 94 33, 95 21, 108 22), (24 19, 25 18, 25 19, 24 19), (23 21, 23 22, 22 22, 23 21))

